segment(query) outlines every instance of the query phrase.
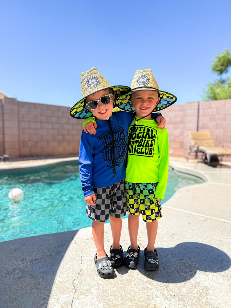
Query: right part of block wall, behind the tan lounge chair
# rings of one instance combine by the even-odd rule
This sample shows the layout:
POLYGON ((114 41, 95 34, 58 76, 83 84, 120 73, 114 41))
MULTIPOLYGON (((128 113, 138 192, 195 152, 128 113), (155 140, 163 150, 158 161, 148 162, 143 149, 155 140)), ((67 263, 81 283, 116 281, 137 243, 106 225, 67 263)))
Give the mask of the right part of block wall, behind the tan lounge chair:
POLYGON ((188 154, 191 144, 188 131, 197 131, 197 125, 198 131, 211 132, 216 146, 231 148, 231 99, 173 105, 163 110, 162 115, 167 120, 170 156, 188 154))

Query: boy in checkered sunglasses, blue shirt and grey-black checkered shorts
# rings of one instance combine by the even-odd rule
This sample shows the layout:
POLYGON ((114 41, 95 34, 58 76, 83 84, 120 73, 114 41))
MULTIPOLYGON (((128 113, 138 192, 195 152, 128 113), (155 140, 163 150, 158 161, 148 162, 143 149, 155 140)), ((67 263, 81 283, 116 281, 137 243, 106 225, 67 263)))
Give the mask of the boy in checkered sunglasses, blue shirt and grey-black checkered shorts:
POLYGON ((115 96, 130 91, 130 88, 111 87, 95 68, 81 74, 81 87, 83 99, 72 107, 70 115, 84 119, 93 114, 97 123, 95 135, 82 132, 79 171, 87 216, 93 220, 97 272, 102 278, 110 278, 115 274, 113 267, 123 264, 120 235, 121 217, 126 214, 124 160, 127 131, 134 118, 134 115, 124 111, 112 113, 112 109, 115 96), (103 245, 104 222, 109 216, 113 238, 110 260, 103 245))

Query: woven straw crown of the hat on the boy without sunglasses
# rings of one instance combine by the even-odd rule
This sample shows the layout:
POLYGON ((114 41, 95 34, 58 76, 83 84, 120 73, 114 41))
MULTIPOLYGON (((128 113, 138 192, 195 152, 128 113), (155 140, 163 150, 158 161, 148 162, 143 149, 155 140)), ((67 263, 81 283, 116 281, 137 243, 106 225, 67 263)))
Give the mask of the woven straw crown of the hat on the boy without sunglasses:
POLYGON ((159 90, 158 83, 152 74, 152 70, 147 68, 146 70, 140 71, 137 70, 135 76, 132 80, 131 85, 132 91, 135 91, 137 88, 155 88, 159 90))

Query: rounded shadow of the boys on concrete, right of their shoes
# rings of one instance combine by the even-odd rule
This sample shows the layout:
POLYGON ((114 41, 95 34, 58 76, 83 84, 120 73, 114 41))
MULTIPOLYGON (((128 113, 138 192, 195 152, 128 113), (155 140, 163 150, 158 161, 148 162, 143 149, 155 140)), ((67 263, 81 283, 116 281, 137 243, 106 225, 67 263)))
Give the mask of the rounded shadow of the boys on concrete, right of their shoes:
POLYGON ((156 250, 160 261, 159 270, 144 270, 144 250, 140 251, 137 270, 158 282, 185 282, 193 278, 197 271, 219 273, 231 266, 231 260, 224 251, 202 243, 183 242, 175 247, 156 247, 156 250))

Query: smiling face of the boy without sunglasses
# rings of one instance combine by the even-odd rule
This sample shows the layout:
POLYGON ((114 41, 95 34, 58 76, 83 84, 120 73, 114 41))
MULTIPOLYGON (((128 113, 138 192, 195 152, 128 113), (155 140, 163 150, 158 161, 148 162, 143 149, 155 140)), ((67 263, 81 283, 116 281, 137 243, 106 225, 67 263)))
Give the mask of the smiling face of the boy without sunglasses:
MULTIPOLYGON (((148 115, 159 103, 160 98, 158 97, 157 91, 142 90, 132 93, 131 103, 132 107, 135 107, 136 116, 143 118, 148 115)), ((144 118, 145 120, 152 120, 151 115, 144 118)))

